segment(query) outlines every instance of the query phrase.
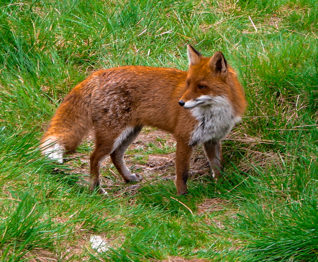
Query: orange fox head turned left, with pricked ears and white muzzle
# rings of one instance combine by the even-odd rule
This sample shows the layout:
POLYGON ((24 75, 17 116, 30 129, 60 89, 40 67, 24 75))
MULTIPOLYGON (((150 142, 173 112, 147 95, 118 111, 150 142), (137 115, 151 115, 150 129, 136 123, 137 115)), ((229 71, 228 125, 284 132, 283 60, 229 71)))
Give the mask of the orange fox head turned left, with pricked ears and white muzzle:
POLYGON ((203 57, 188 45, 189 71, 186 79, 187 90, 179 100, 179 105, 191 109, 215 104, 219 96, 228 93, 227 78, 229 66, 222 54, 203 57))

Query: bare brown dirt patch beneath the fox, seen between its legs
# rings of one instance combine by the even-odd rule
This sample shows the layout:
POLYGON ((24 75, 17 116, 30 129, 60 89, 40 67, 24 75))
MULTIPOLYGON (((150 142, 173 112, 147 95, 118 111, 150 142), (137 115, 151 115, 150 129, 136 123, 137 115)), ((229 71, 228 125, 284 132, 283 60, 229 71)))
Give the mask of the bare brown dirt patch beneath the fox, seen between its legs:
MULTIPOLYGON (((92 132, 87 136, 83 143, 88 144, 93 148, 93 139, 94 136, 92 132)), ((118 193, 122 193, 123 191, 137 190, 143 183, 147 183, 149 180, 175 179, 175 145, 176 141, 168 133, 164 133, 158 129, 144 129, 137 139, 128 147, 125 154, 125 161, 128 168, 130 168, 132 172, 142 175, 142 182, 134 185, 123 185, 121 176, 112 165, 110 157, 108 156, 101 163, 102 187, 106 191, 118 187, 118 193), (162 151, 166 153, 142 154, 149 150, 149 144, 155 145, 157 151, 162 149, 162 151), (103 176, 107 171, 112 175, 103 176)), ((73 155, 76 160, 69 162, 69 167, 73 169, 73 173, 83 176, 87 184, 89 183, 90 153, 91 152, 83 154, 77 152, 73 155)), ((210 170, 209 162, 207 161, 203 150, 201 148, 197 149, 191 158, 189 179, 202 176, 210 172, 210 170)))

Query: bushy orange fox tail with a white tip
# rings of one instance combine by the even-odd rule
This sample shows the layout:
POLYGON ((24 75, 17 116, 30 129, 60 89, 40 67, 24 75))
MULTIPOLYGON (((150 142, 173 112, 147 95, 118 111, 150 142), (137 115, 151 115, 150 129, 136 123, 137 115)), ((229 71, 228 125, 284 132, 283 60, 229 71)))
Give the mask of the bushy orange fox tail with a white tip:
POLYGON ((42 154, 63 163, 63 155, 73 153, 93 127, 90 109, 92 77, 67 94, 42 137, 42 154))

